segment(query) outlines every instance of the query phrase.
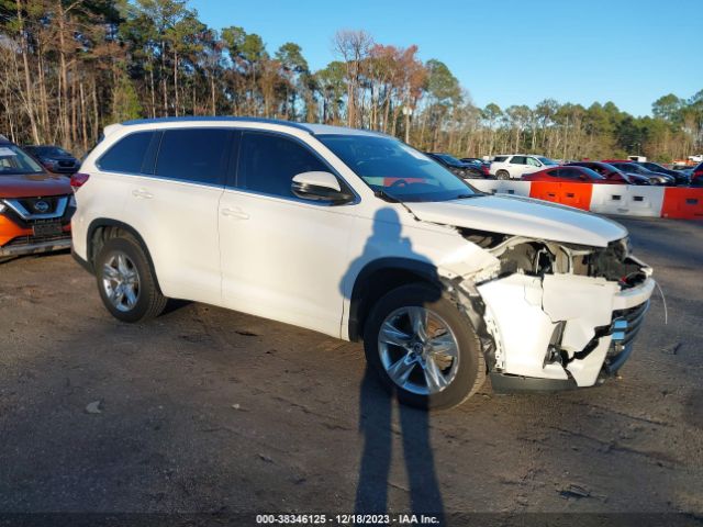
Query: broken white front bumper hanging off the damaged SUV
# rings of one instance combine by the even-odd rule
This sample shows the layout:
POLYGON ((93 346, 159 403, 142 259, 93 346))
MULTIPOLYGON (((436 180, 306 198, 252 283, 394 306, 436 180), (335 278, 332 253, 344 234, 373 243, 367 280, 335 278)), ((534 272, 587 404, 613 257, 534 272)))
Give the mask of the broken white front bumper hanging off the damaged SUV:
POLYGON ((655 288, 651 269, 636 258, 624 256, 622 269, 635 278, 588 276, 578 266, 504 272, 503 265, 489 278, 453 280, 448 290, 479 334, 493 389, 568 390, 615 374, 655 288))

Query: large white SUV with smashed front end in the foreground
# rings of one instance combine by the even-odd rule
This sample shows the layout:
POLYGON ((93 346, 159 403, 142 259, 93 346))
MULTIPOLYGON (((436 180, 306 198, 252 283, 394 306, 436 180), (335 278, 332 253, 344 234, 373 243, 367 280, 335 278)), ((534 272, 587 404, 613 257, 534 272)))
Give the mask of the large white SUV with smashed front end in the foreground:
POLYGON ((256 119, 108 126, 74 177, 77 260, 136 322, 167 298, 341 338, 409 404, 590 386, 655 285, 627 232, 486 195, 395 138, 256 119))

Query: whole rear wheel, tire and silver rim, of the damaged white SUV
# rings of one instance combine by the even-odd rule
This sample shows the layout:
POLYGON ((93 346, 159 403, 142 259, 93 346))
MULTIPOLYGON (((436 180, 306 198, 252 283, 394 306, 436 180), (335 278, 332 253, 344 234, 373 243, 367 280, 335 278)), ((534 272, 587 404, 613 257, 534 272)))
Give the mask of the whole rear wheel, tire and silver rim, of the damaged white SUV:
POLYGON ((123 322, 158 316, 166 306, 144 249, 131 237, 111 238, 96 257, 100 298, 108 311, 123 322))

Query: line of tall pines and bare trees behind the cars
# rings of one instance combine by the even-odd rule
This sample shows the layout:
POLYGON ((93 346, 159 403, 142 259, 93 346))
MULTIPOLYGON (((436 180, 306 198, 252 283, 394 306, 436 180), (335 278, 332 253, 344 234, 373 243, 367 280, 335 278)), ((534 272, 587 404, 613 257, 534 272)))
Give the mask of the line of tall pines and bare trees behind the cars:
POLYGON ((663 96, 644 117, 613 102, 478 108, 415 45, 344 30, 332 47, 335 60, 313 71, 294 42, 271 53, 243 27, 208 27, 187 0, 0 0, 0 133, 82 154, 113 122, 250 115, 366 127, 461 157, 703 150, 703 90, 663 96))

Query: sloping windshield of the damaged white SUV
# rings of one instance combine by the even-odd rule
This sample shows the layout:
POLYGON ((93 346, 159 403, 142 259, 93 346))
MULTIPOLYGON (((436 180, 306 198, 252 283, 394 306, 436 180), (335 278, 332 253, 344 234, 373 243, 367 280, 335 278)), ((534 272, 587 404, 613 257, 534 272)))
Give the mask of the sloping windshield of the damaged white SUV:
POLYGON ((479 195, 437 161, 392 137, 317 138, 375 192, 383 191, 399 201, 449 201, 479 195))

